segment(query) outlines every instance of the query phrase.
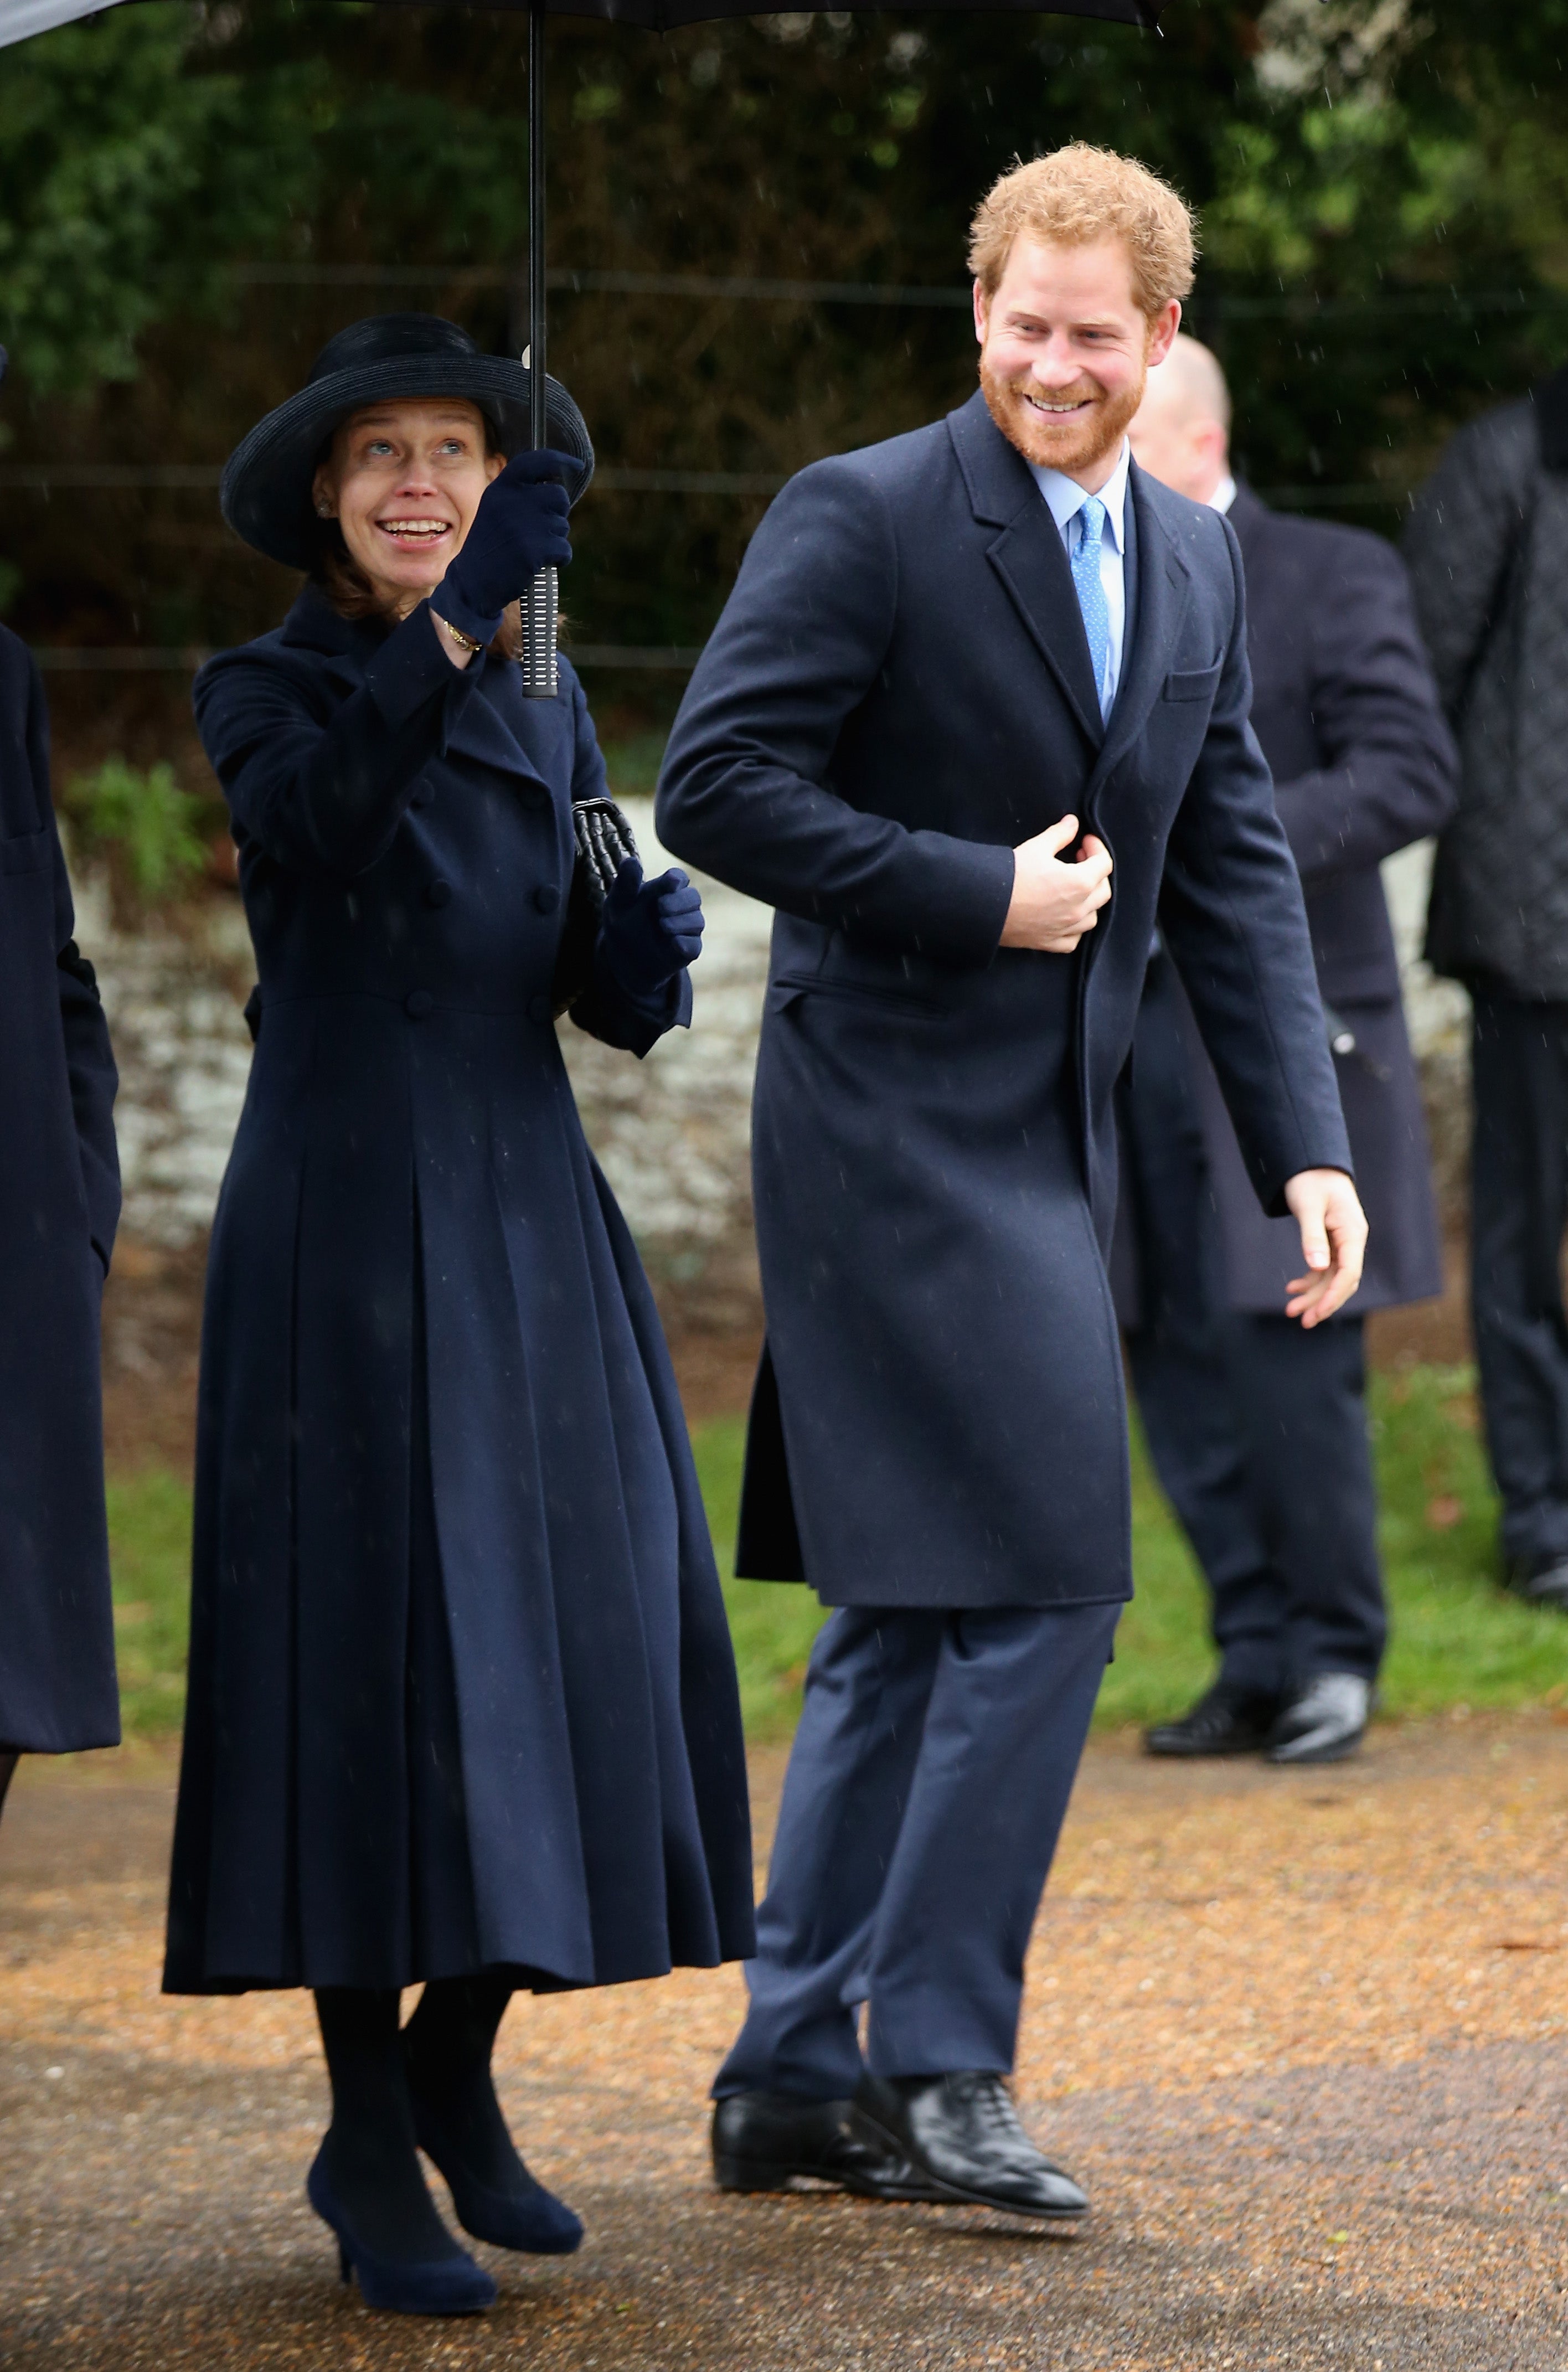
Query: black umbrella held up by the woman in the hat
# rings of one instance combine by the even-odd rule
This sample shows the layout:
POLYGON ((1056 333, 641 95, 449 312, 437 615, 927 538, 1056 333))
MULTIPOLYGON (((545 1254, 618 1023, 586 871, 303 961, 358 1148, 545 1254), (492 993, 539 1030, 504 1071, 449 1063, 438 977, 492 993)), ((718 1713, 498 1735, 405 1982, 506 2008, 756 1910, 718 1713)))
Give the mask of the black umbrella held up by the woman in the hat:
MULTIPOLYGON (((123 0, 0 0, 0 47, 93 17, 123 0)), ((380 0, 399 7, 406 0, 380 0)), ((678 24, 709 24, 716 17, 771 17, 757 0, 484 0, 486 7, 527 9, 529 14, 529 441, 546 444, 546 17, 605 17, 636 24, 650 33, 669 33, 678 24)), ((1113 24, 1155 28, 1162 0, 911 0, 916 9, 958 9, 977 14, 1006 9, 1032 17, 1098 17, 1113 24)), ((871 17, 885 9, 852 7, 847 14, 871 17)), ((555 569, 541 569, 524 610, 524 688, 536 700, 555 697, 555 569)))

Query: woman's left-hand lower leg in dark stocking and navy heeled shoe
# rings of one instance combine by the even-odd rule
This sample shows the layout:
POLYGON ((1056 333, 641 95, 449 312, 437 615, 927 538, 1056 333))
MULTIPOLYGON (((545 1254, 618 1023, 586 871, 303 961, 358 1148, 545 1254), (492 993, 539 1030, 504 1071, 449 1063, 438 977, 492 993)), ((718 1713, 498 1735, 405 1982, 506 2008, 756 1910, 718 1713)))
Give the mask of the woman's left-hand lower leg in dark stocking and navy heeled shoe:
POLYGON ((332 1985, 315 1995, 332 2078, 332 2123, 306 2180, 337 2234, 344 2282, 401 2315, 474 2315, 496 2284, 460 2249, 425 2189, 415 2149, 396 1992, 332 1985))

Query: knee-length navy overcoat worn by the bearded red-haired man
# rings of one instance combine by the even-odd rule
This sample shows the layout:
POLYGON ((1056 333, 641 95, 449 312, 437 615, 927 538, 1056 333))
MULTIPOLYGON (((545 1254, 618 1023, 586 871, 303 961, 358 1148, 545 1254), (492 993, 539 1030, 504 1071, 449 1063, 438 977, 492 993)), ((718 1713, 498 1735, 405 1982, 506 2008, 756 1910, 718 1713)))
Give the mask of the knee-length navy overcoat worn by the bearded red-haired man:
POLYGON ((1063 538, 975 396, 785 486, 669 742, 662 840, 778 908, 742 1570, 828 1603, 1132 1589, 1103 1252, 1155 911, 1260 1203, 1350 1167, 1236 538, 1129 482, 1108 726, 1063 538), (1110 906, 1077 956, 999 949, 1013 844, 1067 811, 1110 906))

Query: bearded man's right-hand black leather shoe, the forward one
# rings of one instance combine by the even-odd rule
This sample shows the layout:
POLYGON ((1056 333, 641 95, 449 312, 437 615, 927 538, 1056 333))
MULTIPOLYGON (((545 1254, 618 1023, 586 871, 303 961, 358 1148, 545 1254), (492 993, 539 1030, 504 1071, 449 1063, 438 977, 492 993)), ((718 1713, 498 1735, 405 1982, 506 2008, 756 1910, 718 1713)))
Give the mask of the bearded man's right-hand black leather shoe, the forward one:
POLYGON ((854 2130, 909 2159, 944 2206, 1086 2215, 1072 2175, 1041 2159, 1001 2076, 863 2076, 854 2130))

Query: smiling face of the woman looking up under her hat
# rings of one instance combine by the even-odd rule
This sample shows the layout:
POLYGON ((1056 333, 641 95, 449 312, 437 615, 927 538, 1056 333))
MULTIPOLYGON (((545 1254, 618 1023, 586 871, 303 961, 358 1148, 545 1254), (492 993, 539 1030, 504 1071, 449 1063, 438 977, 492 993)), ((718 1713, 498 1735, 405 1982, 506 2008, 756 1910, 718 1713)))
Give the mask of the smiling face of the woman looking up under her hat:
POLYGON ((313 500, 342 527, 382 607, 406 617, 441 584, 479 496, 503 470, 501 453, 486 453, 477 403, 410 396, 344 420, 313 500))

